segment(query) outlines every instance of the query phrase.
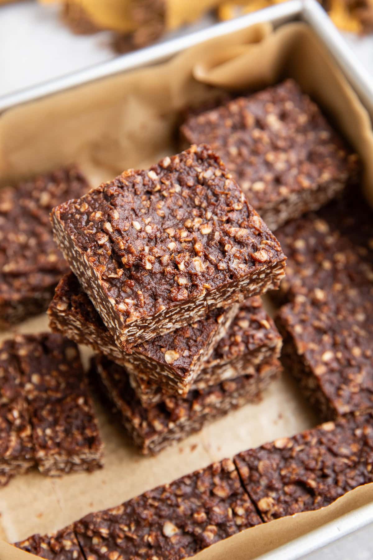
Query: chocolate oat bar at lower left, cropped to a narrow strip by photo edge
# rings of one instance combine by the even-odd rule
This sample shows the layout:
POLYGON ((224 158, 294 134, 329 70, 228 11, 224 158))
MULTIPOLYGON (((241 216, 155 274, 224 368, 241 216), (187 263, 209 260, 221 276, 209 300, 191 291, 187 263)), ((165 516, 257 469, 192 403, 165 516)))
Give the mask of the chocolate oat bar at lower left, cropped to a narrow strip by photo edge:
POLYGON ((13 340, 0 346, 0 486, 35 464, 27 399, 13 340))

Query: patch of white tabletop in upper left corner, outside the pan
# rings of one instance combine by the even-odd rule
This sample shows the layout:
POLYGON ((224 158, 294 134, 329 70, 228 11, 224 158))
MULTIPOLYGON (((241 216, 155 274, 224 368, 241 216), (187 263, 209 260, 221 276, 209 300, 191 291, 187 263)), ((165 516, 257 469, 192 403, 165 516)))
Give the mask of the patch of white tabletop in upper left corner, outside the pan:
POLYGON ((0 7, 0 95, 114 57, 110 34, 73 35, 57 13, 31 1, 0 7))

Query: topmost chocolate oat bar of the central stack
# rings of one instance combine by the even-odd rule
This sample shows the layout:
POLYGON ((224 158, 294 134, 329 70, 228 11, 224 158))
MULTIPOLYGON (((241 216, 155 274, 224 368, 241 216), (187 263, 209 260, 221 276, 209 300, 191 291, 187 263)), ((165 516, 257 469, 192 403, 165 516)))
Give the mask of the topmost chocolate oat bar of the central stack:
POLYGON ((285 256, 205 146, 52 213, 55 238, 115 342, 135 346, 276 288, 285 256))

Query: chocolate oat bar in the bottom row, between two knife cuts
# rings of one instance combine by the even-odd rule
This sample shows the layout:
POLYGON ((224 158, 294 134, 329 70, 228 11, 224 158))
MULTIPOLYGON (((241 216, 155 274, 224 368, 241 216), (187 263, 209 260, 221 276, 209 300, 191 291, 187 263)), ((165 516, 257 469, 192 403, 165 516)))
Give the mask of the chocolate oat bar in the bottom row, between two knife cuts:
POLYGON ((74 524, 86 558, 181 558, 261 524, 224 459, 74 524), (118 554, 118 556, 115 556, 118 554))

